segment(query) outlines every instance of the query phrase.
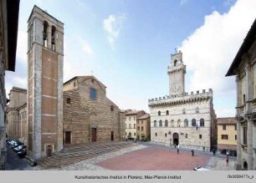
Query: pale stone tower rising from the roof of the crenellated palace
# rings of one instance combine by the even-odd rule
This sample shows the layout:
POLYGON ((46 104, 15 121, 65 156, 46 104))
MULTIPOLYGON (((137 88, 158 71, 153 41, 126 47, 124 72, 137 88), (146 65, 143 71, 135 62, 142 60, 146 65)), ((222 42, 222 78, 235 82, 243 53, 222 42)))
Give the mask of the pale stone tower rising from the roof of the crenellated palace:
POLYGON ((171 54, 171 65, 168 66, 169 96, 182 96, 185 93, 186 65, 182 61, 182 52, 171 54))

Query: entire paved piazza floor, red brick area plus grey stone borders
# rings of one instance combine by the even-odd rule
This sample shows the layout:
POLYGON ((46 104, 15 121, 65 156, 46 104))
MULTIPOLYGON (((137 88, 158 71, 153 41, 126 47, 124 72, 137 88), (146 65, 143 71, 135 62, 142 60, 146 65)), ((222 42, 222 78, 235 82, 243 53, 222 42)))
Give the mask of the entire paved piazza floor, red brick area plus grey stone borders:
POLYGON ((59 170, 193 170, 201 165, 210 170, 234 170, 234 160, 226 163, 225 156, 189 150, 177 150, 156 145, 136 145, 100 155, 59 170))

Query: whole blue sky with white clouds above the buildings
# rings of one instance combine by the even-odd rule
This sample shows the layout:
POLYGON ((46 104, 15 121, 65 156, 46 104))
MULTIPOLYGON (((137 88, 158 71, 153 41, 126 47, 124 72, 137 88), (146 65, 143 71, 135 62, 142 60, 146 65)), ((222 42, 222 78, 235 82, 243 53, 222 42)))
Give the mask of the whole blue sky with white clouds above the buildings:
POLYGON ((15 72, 6 89, 27 88, 27 21, 33 6, 64 23, 64 82, 94 75, 120 109, 149 112, 169 93, 175 49, 187 65, 186 92, 213 90, 217 117, 233 117, 235 77, 225 77, 256 18, 254 0, 21 0, 15 72))

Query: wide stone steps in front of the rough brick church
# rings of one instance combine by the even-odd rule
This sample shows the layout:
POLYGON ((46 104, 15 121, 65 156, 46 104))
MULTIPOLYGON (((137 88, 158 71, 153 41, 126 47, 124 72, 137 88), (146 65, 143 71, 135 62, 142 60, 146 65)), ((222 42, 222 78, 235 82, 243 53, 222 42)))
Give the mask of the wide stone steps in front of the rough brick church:
POLYGON ((98 155, 111 151, 120 150, 135 145, 126 141, 94 142, 81 145, 69 145, 56 154, 40 160, 38 165, 41 169, 58 169, 62 166, 71 165, 79 161, 88 160, 98 155))

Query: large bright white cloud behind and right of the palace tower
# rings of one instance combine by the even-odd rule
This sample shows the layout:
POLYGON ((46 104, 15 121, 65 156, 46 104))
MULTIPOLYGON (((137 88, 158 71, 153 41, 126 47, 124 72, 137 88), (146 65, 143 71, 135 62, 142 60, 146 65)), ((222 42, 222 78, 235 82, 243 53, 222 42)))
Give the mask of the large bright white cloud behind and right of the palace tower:
POLYGON ((183 60, 192 73, 188 90, 212 88, 223 93, 235 89, 225 74, 256 17, 255 9, 256 1, 238 0, 228 13, 207 15, 204 24, 182 42, 183 60))

